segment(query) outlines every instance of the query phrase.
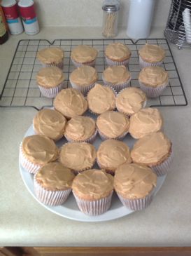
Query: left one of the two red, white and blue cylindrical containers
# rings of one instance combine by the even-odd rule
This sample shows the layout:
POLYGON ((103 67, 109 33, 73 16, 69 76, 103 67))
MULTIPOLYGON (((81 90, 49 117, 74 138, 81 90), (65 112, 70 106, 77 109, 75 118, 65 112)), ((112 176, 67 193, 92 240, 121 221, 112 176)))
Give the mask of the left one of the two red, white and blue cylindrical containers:
POLYGON ((3 0, 1 1, 1 6, 6 16, 10 34, 21 34, 23 27, 17 11, 17 2, 15 0, 3 0))

